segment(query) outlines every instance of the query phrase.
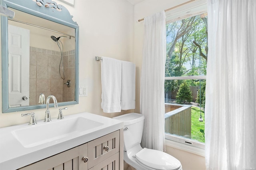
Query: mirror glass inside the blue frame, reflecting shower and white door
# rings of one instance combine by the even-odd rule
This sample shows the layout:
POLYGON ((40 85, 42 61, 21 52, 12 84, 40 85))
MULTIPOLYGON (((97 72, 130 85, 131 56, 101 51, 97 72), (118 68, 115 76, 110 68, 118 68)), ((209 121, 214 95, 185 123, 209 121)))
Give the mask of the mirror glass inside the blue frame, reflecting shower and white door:
POLYGON ((15 11, 8 19, 9 107, 32 106, 40 94, 75 100, 75 29, 15 11))

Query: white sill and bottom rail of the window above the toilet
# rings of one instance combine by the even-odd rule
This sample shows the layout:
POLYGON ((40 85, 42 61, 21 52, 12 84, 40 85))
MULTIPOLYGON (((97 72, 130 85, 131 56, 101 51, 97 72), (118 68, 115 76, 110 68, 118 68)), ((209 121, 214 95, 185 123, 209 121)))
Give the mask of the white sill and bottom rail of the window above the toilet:
POLYGON ((196 155, 199 155, 199 156, 203 156, 204 157, 204 144, 203 143, 200 143, 200 142, 194 142, 193 140, 186 140, 186 139, 180 139, 178 138, 179 140, 184 140, 185 141, 193 141, 191 145, 188 145, 188 144, 183 144, 181 142, 175 142, 173 140, 170 140, 168 138, 176 138, 174 136, 171 136, 171 135, 168 135, 168 134, 165 134, 165 145, 166 146, 169 146, 169 147, 172 147, 172 148, 176 148, 176 149, 180 149, 180 150, 184 150, 186 152, 190 152, 192 154, 196 154, 196 155), (192 146, 193 144, 199 144, 200 148, 196 147, 196 146, 192 146))

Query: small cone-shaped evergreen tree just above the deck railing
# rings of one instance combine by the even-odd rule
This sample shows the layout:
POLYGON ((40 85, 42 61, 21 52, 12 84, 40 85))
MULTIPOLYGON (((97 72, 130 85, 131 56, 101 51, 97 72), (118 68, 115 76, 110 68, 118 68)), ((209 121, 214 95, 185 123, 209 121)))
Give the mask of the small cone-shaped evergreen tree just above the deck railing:
POLYGON ((186 82, 180 84, 176 99, 178 103, 192 102, 192 92, 186 82))

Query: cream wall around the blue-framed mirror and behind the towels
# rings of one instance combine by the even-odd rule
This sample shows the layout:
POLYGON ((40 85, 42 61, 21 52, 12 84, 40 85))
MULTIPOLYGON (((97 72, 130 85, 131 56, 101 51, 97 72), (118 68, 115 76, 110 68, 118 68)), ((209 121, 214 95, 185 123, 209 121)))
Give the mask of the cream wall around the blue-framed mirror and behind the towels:
MULTIPOLYGON (((100 62, 95 61, 94 56, 132 60, 134 6, 124 0, 75 0, 74 6, 59 0, 55 2, 65 6, 79 25, 79 84, 88 86, 88 96, 80 97, 79 104, 69 105, 64 116, 78 112, 91 112, 113 117, 133 112, 133 110, 112 114, 102 112, 100 62)), ((2 75, 2 70, 0 74, 2 75)), ((45 109, 2 113, 2 83, 0 83, 0 89, 0 127, 29 122, 29 117, 21 117, 21 113, 24 112, 35 112, 36 120, 44 119, 45 109)), ((50 108, 52 118, 58 116, 59 108, 50 108)))

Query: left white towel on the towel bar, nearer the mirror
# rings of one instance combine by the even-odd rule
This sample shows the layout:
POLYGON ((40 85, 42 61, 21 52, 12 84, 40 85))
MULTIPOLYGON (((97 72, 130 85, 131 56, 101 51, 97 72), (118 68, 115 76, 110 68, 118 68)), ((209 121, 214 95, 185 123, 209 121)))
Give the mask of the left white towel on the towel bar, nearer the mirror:
POLYGON ((121 112, 121 72, 122 62, 102 57, 101 62, 101 108, 105 113, 121 112))

